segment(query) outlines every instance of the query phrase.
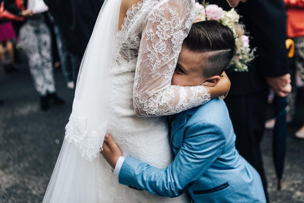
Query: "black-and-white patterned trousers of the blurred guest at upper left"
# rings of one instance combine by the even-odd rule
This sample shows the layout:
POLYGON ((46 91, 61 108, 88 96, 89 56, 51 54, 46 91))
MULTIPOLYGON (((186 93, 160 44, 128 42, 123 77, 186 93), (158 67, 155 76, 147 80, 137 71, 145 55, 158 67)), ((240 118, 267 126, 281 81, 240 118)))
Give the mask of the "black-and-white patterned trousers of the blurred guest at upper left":
POLYGON ((41 96, 54 93, 52 40, 44 16, 35 15, 22 25, 19 33, 22 47, 28 58, 34 87, 41 96))

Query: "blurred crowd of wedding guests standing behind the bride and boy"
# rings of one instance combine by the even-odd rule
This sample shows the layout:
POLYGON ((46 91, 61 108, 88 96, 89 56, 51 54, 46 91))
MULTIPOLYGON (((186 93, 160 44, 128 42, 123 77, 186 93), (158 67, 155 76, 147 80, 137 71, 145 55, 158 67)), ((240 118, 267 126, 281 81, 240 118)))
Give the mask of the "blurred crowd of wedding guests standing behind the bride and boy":
MULTIPOLYGON (((60 67, 67 88, 75 89, 82 56, 104 1, 0 2, 0 59, 5 73, 18 72, 15 56, 26 54, 41 110, 63 105, 64 99, 56 93, 54 68, 60 67)), ((224 0, 209 2, 230 9, 224 0)), ((260 149, 264 129, 274 129, 278 142, 283 141, 279 156, 285 156, 286 126, 297 110, 297 95, 304 93, 304 0, 248 0, 236 9, 252 37, 250 45, 257 47, 257 57, 248 73, 227 72, 232 87, 225 101, 235 133, 240 135, 236 147, 260 173, 267 195, 260 149), (287 39, 291 40, 285 43, 287 39), (288 94, 284 88, 290 82, 288 94), (267 102, 275 113, 266 122, 267 102)), ((295 137, 304 139, 304 122, 295 137)))

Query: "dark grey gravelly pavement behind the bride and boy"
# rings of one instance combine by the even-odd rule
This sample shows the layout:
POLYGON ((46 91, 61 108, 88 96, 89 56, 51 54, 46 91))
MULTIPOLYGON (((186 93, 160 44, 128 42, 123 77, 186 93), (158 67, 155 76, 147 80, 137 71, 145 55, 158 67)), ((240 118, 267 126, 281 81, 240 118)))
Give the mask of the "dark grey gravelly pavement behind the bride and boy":
MULTIPOLYGON (((21 68, 13 75, 6 75, 3 68, 0 69, 0 99, 5 102, 0 107, 1 203, 42 201, 73 101, 73 91, 66 88, 59 70, 55 72, 55 77, 58 95, 64 97, 67 103, 42 112, 28 69, 21 68)), ((304 141, 293 138, 295 130, 304 121, 304 104, 298 103, 297 121, 288 128, 282 191, 276 190, 271 132, 265 132, 262 148, 272 202, 304 202, 304 141)))

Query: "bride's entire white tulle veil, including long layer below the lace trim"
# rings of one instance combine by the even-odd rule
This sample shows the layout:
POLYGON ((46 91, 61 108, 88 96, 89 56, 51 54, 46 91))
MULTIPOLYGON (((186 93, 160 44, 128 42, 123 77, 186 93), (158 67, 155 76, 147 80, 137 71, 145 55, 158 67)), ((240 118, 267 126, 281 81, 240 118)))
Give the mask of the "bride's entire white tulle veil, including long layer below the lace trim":
POLYGON ((96 157, 109 114, 106 100, 120 5, 121 0, 105 0, 100 10, 81 62, 73 110, 43 202, 98 202, 96 157))

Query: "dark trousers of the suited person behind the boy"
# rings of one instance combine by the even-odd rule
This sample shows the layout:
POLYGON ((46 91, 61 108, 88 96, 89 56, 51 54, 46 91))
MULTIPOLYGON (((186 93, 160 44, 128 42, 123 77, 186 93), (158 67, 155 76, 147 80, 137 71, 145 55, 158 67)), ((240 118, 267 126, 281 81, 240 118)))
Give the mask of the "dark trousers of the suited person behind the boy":
POLYGON ((260 174, 268 200, 267 180, 260 148, 266 121, 267 92, 250 96, 228 96, 225 102, 237 136, 235 146, 240 155, 260 174))

